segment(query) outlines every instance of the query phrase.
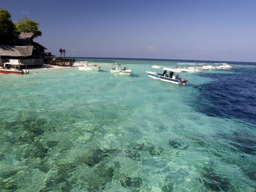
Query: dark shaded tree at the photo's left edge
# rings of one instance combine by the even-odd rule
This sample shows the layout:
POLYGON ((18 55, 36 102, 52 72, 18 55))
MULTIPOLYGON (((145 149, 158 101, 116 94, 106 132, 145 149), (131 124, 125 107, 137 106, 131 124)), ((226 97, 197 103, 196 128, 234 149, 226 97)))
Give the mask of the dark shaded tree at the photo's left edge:
POLYGON ((12 44, 16 37, 17 32, 15 31, 15 25, 11 20, 10 13, 0 9, 0 44, 12 44))

